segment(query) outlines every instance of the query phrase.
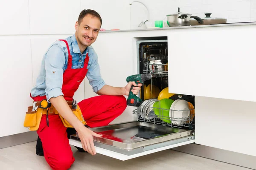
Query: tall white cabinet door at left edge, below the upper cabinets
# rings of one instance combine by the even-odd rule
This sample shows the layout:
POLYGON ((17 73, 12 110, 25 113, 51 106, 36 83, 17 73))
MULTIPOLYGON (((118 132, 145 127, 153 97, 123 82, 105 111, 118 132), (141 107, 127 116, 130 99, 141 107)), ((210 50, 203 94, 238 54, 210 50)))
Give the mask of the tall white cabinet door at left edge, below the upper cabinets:
POLYGON ((1 38, 1 119, 0 137, 28 131, 23 120, 32 88, 32 62, 30 40, 25 38, 1 38))

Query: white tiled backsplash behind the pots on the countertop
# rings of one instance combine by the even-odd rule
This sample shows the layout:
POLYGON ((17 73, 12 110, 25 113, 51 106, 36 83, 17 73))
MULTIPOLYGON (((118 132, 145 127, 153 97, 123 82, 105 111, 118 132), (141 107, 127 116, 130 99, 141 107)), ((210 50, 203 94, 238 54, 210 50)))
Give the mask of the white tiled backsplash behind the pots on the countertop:
MULTIPOLYGON (((212 13, 211 17, 227 18, 227 23, 256 21, 256 0, 139 0, 149 10, 152 26, 155 20, 166 20, 166 14, 178 11, 205 17, 204 13, 212 13)), ((131 28, 136 28, 145 15, 145 7, 133 3, 131 9, 131 28)))

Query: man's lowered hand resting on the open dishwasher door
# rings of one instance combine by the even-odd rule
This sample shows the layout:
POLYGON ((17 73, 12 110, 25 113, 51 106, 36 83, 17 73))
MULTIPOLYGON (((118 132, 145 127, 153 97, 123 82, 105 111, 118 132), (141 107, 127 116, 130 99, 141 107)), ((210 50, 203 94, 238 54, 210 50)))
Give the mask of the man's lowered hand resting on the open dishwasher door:
POLYGON ((87 151, 88 153, 90 153, 91 155, 95 155, 96 150, 95 150, 94 143, 93 143, 93 136, 101 137, 102 135, 99 135, 99 134, 93 132, 92 130, 88 129, 85 126, 84 126, 84 128, 77 130, 77 133, 81 140, 83 149, 85 151, 87 151))

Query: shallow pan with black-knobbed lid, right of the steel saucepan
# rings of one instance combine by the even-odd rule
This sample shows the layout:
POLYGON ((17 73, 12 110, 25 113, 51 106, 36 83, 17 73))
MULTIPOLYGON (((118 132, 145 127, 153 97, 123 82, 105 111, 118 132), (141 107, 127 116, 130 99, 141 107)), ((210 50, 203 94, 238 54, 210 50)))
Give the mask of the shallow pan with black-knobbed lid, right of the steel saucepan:
POLYGON ((227 19, 225 18, 217 18, 217 17, 211 17, 212 13, 206 13, 205 18, 202 18, 204 23, 199 24, 197 20, 190 20, 191 26, 198 26, 198 25, 210 25, 210 24, 225 24, 227 23, 227 19))

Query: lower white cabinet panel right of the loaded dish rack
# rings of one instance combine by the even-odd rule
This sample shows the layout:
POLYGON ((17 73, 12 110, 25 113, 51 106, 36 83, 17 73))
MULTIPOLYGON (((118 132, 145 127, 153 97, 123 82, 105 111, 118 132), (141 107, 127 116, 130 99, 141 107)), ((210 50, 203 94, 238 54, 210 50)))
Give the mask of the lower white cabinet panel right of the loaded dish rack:
POLYGON ((195 98, 195 143, 256 156, 256 102, 195 98))

